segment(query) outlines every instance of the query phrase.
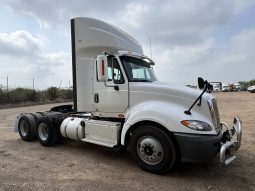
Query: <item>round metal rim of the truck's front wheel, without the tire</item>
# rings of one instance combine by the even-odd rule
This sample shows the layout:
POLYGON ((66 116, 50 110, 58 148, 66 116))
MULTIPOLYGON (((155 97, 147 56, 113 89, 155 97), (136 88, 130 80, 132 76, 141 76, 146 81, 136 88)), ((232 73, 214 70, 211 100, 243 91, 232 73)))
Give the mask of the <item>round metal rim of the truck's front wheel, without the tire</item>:
POLYGON ((163 159, 163 147, 161 143, 151 136, 143 136, 137 142, 137 153, 143 162, 156 165, 163 159))

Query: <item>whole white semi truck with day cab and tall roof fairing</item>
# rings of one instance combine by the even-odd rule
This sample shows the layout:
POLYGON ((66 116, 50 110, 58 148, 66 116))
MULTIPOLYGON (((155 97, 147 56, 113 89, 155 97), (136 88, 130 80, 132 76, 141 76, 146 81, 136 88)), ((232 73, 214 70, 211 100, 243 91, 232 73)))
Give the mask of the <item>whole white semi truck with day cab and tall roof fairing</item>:
POLYGON ((52 146, 64 137, 128 148, 153 173, 167 172, 178 160, 208 162, 219 154, 228 165, 235 159, 241 121, 234 117, 232 127, 220 122, 207 81, 199 78, 202 91, 158 81, 142 46, 96 19, 72 19, 71 42, 74 106, 19 115, 15 130, 24 141, 52 146))

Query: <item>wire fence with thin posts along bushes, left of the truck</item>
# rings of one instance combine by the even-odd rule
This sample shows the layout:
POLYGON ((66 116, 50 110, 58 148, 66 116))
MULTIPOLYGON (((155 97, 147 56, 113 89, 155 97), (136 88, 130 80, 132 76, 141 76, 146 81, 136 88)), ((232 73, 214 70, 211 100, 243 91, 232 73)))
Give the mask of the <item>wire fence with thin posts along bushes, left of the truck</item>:
POLYGON ((16 78, 6 76, 0 81, 0 104, 21 102, 71 101, 71 80, 16 78))

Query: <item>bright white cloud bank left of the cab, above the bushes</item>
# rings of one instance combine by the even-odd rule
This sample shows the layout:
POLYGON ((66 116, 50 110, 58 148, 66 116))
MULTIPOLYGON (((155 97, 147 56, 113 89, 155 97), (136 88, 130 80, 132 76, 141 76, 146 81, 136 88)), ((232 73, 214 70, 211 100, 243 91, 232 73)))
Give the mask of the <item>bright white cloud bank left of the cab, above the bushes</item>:
POLYGON ((0 76, 9 76, 13 87, 31 85, 32 78, 37 79, 37 88, 57 86, 60 80, 65 80, 67 85, 71 80, 70 54, 48 52, 47 42, 45 37, 27 31, 1 33, 0 76))

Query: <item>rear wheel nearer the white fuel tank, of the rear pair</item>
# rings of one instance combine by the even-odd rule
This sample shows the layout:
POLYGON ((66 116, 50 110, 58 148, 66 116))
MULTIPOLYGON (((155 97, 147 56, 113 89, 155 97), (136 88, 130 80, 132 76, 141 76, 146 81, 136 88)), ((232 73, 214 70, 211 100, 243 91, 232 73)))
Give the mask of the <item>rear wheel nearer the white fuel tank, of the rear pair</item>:
POLYGON ((43 146, 53 146, 58 140, 57 129, 48 117, 41 117, 37 121, 36 136, 43 146))

